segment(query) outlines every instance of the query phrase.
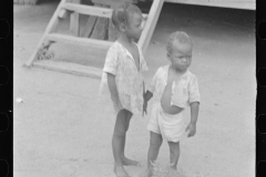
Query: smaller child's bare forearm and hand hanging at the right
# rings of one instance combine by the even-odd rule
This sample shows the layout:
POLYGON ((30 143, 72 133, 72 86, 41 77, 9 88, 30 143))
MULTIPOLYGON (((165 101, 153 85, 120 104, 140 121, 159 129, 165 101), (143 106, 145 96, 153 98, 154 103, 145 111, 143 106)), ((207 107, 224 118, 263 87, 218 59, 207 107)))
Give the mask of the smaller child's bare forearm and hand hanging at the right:
POLYGON ((187 125, 186 131, 188 131, 187 136, 194 136, 196 134, 196 122, 198 115, 198 102, 191 103, 191 123, 187 125))

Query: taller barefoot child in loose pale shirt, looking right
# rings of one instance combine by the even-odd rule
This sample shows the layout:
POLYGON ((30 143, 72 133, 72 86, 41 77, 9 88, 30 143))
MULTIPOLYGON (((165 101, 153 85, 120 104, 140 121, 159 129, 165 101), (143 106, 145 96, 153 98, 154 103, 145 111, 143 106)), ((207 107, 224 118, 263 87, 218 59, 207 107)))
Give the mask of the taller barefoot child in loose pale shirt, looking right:
POLYGON ((140 164, 124 155, 126 131, 132 115, 141 115, 143 112, 142 72, 147 71, 142 51, 134 42, 141 37, 142 12, 134 4, 122 3, 113 11, 112 22, 119 32, 119 39, 108 51, 102 84, 105 83, 109 87, 116 115, 112 138, 114 173, 117 177, 129 177, 123 165, 140 164))

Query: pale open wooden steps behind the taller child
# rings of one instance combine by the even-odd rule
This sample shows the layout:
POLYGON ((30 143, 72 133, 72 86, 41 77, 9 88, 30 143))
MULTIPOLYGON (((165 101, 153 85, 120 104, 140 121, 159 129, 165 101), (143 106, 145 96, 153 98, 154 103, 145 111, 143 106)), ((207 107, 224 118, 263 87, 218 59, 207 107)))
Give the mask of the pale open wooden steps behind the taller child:
MULTIPOLYGON (((92 0, 101 1, 104 3, 109 2, 110 6, 117 3, 117 1, 126 0, 92 0)), ((131 1, 131 0, 127 0, 131 1)), ((143 14, 145 20, 145 25, 141 38, 139 39, 139 45, 142 48, 143 53, 146 52, 150 40, 152 38, 155 24, 157 22, 161 9, 163 7, 164 0, 153 0, 152 7, 149 14, 143 14)), ((38 60, 40 52, 43 50, 49 50, 50 45, 54 42, 70 43, 74 45, 83 45, 92 49, 106 50, 111 46, 113 41, 89 39, 80 35, 79 30, 79 15, 86 14, 91 17, 108 18, 112 17, 112 8, 96 7, 96 6, 85 6, 81 4, 81 0, 61 0, 54 14, 52 15, 41 40, 39 41, 37 49, 32 53, 31 58, 24 63, 24 66, 37 66, 41 69, 59 71, 64 73, 72 73, 76 75, 84 75, 100 79, 102 75, 102 70, 99 67, 85 66, 81 64, 68 63, 68 62, 55 62, 52 60, 38 60), (58 30, 63 19, 70 13, 70 31, 72 35, 60 34, 58 30)))

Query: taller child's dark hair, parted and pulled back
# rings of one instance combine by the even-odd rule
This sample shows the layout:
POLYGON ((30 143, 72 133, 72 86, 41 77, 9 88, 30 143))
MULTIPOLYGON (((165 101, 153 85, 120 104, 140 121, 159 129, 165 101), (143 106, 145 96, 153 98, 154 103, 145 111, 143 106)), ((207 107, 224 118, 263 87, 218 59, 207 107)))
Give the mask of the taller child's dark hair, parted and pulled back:
POLYGON ((123 2, 120 3, 112 13, 112 22, 113 25, 119 29, 120 24, 127 25, 130 22, 130 17, 133 13, 142 13, 140 8, 135 4, 123 2))

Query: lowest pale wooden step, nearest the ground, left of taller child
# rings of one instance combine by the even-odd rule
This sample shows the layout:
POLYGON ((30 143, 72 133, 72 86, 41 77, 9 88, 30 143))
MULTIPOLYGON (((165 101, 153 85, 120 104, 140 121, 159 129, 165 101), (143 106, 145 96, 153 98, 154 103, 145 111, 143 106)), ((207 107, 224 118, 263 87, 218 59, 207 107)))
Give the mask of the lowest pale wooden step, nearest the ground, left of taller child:
POLYGON ((101 69, 84 66, 81 64, 69 63, 69 62, 42 60, 42 61, 34 62, 33 66, 39 69, 50 70, 50 71, 80 75, 80 76, 89 76, 89 77, 99 79, 99 80, 102 77, 101 69))

